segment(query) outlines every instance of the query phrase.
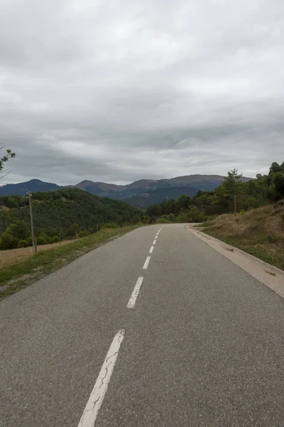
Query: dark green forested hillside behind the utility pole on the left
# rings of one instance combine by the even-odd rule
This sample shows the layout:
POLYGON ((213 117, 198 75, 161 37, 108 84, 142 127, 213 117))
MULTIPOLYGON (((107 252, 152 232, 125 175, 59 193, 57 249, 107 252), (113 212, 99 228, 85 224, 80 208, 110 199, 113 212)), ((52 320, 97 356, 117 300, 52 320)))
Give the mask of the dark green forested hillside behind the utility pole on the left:
MULTIPOLYGON (((143 212, 123 201, 104 199, 80 189, 34 193, 33 223, 38 244, 94 233, 106 224, 122 226, 141 221, 143 212)), ((31 245, 28 200, 0 197, 0 248, 31 245)))

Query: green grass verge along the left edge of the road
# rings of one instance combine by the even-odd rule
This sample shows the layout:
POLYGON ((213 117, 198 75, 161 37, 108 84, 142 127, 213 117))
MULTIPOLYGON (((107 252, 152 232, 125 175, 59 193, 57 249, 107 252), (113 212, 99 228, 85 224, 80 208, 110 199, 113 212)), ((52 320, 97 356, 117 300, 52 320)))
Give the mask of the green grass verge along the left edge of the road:
POLYGON ((39 252, 28 260, 16 265, 0 269, 0 299, 11 295, 22 288, 43 278, 64 265, 71 263, 76 258, 93 251, 104 243, 123 236, 139 226, 126 226, 124 228, 105 228, 99 233, 80 238, 60 248, 39 252))

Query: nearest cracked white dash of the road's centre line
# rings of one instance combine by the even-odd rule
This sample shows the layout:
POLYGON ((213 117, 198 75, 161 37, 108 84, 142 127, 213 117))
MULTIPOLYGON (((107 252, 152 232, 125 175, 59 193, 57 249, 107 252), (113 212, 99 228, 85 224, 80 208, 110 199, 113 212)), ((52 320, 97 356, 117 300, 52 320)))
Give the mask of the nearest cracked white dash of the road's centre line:
POLYGON ((109 385, 109 380, 114 370, 117 356, 119 355, 119 347, 124 339, 124 332, 124 330, 117 332, 111 343, 111 347, 109 347, 109 352, 104 359, 104 364, 99 372, 96 384, 94 384, 91 396, 89 396, 87 405, 84 408, 78 427, 94 427, 99 408, 102 406, 102 401, 104 400, 104 395, 106 394, 107 386, 109 385))

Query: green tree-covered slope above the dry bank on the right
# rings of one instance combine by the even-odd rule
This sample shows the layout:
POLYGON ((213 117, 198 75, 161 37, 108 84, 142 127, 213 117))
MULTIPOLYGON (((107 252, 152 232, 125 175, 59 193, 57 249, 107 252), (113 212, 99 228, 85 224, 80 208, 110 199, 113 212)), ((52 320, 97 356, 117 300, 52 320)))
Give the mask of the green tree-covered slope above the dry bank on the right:
MULTIPOLYGON (((267 175, 258 174, 256 179, 242 181, 236 170, 214 191, 198 191, 190 198, 182 196, 177 201, 165 200, 149 206, 147 214, 151 222, 161 221, 202 222, 220 214, 247 211, 284 199, 284 162, 274 162, 267 175)), ((284 220, 283 220, 284 221, 284 220)))

